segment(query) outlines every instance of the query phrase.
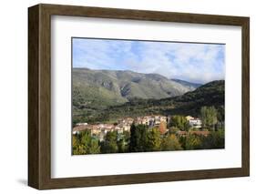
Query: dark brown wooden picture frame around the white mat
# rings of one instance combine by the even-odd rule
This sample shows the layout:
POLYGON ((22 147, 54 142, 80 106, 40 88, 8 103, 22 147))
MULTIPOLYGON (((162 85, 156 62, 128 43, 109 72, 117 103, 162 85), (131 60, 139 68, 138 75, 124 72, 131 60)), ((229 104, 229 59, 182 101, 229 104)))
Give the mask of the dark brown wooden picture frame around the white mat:
POLYGON ((28 185, 60 189, 250 175, 250 18, 71 5, 28 8, 28 185), (51 178, 51 15, 241 26, 241 168, 201 169, 79 178, 51 178))

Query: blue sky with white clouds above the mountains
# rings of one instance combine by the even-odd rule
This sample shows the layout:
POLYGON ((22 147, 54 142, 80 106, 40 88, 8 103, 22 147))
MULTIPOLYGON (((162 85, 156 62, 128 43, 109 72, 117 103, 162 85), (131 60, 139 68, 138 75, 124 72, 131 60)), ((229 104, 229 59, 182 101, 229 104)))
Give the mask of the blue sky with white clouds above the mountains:
POLYGON ((225 45, 73 38, 73 67, 207 83, 225 77, 225 45))

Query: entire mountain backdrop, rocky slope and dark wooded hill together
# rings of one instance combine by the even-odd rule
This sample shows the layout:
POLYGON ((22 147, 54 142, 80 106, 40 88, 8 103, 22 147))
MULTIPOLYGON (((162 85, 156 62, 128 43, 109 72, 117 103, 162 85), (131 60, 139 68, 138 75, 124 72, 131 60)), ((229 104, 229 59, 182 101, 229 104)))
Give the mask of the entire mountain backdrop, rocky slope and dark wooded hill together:
POLYGON ((158 74, 73 68, 73 123, 108 122, 118 117, 191 115, 200 107, 224 112, 224 80, 205 85, 158 74))

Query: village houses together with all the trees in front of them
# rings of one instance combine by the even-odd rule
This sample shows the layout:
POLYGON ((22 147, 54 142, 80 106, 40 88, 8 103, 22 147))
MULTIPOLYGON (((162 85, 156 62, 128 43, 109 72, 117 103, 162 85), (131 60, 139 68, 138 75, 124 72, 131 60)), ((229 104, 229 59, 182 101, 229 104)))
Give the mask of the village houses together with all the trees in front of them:
POLYGON ((224 148, 224 120, 218 119, 215 107, 201 107, 200 112, 200 117, 148 115, 77 123, 72 129, 72 154, 224 148))

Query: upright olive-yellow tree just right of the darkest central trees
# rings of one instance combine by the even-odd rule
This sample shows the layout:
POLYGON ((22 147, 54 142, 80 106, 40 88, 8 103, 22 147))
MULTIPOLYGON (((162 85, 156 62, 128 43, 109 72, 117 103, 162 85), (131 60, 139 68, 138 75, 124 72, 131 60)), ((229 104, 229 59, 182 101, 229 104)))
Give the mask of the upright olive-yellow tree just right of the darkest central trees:
POLYGON ((160 131, 152 128, 147 133, 146 151, 159 151, 161 146, 160 131))

